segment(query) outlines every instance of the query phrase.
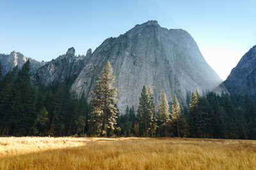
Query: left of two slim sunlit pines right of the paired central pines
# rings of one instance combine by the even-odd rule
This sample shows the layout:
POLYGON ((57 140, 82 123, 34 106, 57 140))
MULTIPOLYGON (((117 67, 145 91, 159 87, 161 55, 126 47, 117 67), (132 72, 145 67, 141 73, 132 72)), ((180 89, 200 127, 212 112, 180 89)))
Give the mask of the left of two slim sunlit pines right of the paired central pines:
POLYGON ((161 93, 158 112, 159 112, 159 120, 161 122, 161 127, 164 128, 164 136, 167 136, 167 129, 168 129, 168 124, 170 122, 171 113, 169 111, 169 104, 164 91, 161 93))

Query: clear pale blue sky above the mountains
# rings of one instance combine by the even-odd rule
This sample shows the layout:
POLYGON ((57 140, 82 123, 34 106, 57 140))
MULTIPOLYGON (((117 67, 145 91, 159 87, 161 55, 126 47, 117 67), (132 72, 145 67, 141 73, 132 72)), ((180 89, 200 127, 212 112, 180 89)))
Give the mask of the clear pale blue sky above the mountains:
POLYGON ((157 20, 181 28, 224 80, 256 45, 256 1, 26 1, 0 0, 0 53, 13 50, 51 60, 74 46, 95 50, 104 39, 157 20))

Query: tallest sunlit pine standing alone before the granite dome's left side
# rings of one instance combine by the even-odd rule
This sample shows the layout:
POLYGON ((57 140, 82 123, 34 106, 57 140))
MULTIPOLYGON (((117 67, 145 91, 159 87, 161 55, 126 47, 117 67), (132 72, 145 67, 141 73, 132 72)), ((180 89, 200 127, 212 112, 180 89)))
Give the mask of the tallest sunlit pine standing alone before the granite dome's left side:
MULTIPOLYGON (((95 97, 92 99, 93 112, 96 117, 99 117, 98 125, 102 124, 101 133, 106 137, 108 130, 114 131, 116 128, 116 114, 118 113, 115 103, 116 103, 116 91, 117 89, 113 87, 115 82, 115 76, 112 75, 113 68, 110 62, 106 62, 104 70, 102 71, 99 80, 96 83, 96 90, 93 91, 95 97)), ((94 116, 92 116, 93 118, 94 116)), ((97 129, 99 132, 99 129, 97 129)))

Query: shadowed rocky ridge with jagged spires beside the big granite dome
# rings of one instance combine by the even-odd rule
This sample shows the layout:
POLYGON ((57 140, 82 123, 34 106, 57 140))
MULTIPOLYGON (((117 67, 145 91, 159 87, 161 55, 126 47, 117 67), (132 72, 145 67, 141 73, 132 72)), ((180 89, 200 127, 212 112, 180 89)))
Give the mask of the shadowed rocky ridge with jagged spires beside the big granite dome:
POLYGON ((61 81, 76 80, 78 74, 85 66, 86 59, 90 58, 92 50, 89 49, 84 55, 75 55, 75 49, 68 48, 68 51, 64 55, 60 55, 57 59, 52 59, 44 66, 40 67, 36 73, 32 76, 33 84, 42 83, 49 85, 51 83, 60 83, 61 81))

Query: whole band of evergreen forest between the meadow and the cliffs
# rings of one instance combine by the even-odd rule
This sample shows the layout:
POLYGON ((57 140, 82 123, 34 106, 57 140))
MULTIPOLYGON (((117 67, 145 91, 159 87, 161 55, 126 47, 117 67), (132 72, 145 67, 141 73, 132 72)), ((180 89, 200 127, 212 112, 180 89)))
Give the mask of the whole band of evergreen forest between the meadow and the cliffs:
POLYGON ((256 103, 247 94, 201 96, 195 89, 186 108, 162 92, 156 110, 148 85, 141 89, 138 108, 127 106, 120 115, 112 72, 107 62, 88 103, 84 95, 70 92, 72 78, 32 86, 29 60, 4 76, 0 63, 0 136, 256 139, 256 103))

